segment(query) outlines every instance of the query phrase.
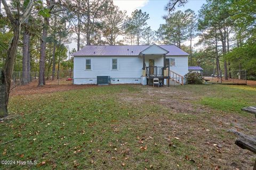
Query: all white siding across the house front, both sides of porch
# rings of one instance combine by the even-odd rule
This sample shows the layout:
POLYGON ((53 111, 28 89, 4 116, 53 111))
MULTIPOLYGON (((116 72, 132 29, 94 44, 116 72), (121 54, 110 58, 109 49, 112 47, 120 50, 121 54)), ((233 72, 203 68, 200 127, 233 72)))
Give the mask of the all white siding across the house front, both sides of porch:
MULTIPOLYGON (((170 70, 185 75, 188 73, 187 56, 166 56, 175 58, 175 67, 170 70)), ((146 55, 155 61, 155 66, 163 66, 162 55, 146 55)), ((140 56, 75 56, 74 57, 74 84, 97 84, 97 76, 110 76, 111 83, 140 83, 142 74, 142 57, 140 56), (112 69, 112 58, 117 58, 117 70, 112 69), (85 70, 85 60, 91 59, 91 70, 85 70)))

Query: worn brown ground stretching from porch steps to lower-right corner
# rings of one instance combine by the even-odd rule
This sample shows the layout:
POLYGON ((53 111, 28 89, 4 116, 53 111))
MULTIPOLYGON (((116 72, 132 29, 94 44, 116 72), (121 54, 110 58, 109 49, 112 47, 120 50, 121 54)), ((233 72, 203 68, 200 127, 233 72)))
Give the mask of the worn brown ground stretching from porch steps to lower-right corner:
POLYGON ((139 94, 132 96, 126 94, 125 97, 121 97, 121 101, 136 106, 146 103, 159 104, 171 109, 167 115, 159 113, 154 116, 149 114, 147 117, 139 117, 133 121, 133 124, 143 124, 149 132, 145 136, 160 135, 166 139, 166 145, 170 143, 170 139, 178 137, 185 145, 195 146, 193 160, 198 168, 252 169, 255 156, 252 152, 237 147, 234 144, 236 137, 228 130, 232 128, 255 135, 256 129, 252 128, 255 127, 255 119, 234 113, 222 113, 195 104, 200 98, 201 96, 193 92, 181 89, 172 87, 158 89, 147 86, 139 94), (215 144, 220 147, 214 146, 215 144))

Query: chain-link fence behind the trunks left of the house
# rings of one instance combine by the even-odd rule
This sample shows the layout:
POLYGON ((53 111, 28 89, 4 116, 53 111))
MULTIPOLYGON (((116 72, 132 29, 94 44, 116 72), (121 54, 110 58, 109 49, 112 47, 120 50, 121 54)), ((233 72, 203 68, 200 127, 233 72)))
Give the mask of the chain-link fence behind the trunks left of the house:
MULTIPOLYGON (((25 84, 37 84, 39 72, 13 72, 11 80, 11 88, 25 84)), ((55 72, 45 72, 46 84, 72 84, 73 72, 71 70, 62 70, 55 72)))

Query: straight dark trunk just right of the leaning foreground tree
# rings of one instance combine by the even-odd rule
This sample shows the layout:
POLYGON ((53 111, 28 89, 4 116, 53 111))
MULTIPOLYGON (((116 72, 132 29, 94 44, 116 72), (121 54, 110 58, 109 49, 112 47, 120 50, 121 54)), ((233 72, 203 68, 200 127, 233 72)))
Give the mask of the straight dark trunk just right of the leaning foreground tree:
MULTIPOLYGON (((28 20, 25 22, 28 23, 28 20)), ((23 31, 23 47, 22 47, 22 79, 21 84, 26 85, 28 83, 28 29, 26 28, 23 31)))

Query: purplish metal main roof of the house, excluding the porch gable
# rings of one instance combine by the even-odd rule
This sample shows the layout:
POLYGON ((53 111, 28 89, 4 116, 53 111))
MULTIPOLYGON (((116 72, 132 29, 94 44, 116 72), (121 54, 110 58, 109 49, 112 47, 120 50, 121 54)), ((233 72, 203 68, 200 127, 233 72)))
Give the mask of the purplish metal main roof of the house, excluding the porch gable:
MULTIPOLYGON (((150 46, 148 45, 126 45, 126 46, 85 46, 74 56, 133 56, 140 55, 140 52, 145 50, 150 46)), ((163 49, 167 50, 169 53, 166 55, 172 56, 187 56, 188 53, 184 52, 182 49, 175 45, 159 45, 163 49)))

